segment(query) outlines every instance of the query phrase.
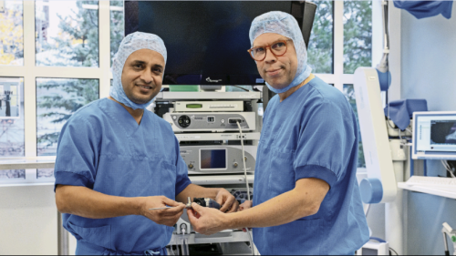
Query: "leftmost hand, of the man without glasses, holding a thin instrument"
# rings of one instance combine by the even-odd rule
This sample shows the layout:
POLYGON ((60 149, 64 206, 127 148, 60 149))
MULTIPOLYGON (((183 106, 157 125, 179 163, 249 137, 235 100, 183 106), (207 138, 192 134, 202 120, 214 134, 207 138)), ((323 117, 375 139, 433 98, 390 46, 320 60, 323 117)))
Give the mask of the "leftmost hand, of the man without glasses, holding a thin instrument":
POLYGON ((177 220, 181 218, 185 204, 170 200, 164 196, 147 197, 143 198, 141 203, 141 215, 154 221, 157 224, 166 225, 169 227, 174 226, 177 220), (149 210, 150 208, 161 208, 166 206, 175 206, 170 209, 163 210, 149 210))

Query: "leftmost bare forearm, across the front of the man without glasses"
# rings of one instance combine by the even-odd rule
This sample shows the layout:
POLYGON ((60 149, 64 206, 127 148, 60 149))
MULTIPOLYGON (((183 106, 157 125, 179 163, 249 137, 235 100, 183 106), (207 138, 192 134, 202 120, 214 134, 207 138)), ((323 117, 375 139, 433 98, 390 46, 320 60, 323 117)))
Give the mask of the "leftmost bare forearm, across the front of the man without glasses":
POLYGON ((141 198, 109 196, 93 189, 57 185, 58 211, 90 219, 140 215, 141 198))

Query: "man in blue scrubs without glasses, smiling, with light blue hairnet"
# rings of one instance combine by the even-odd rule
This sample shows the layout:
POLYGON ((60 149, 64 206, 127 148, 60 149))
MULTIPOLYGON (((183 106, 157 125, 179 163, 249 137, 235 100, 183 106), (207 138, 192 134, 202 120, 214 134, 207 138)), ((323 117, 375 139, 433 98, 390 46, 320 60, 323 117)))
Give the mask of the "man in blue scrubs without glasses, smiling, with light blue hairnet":
POLYGON ((108 98, 80 108, 58 139, 57 209, 78 240, 76 254, 166 254, 187 197, 238 203, 226 189, 191 184, 169 123, 144 111, 161 90, 159 36, 126 36, 113 60, 108 98), (171 206, 166 210, 150 210, 171 206))

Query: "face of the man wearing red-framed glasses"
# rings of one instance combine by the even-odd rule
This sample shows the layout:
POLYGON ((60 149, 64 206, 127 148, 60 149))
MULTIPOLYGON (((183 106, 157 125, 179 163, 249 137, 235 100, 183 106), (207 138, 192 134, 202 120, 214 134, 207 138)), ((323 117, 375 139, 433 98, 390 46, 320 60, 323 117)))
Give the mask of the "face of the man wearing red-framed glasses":
POLYGON ((295 45, 288 37, 275 33, 265 33, 256 37, 254 47, 271 46, 278 40, 288 40, 286 52, 283 56, 275 56, 270 48, 266 49, 266 57, 262 61, 256 61, 256 67, 260 76, 272 87, 282 89, 291 84, 296 75, 297 56, 295 45))

